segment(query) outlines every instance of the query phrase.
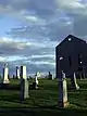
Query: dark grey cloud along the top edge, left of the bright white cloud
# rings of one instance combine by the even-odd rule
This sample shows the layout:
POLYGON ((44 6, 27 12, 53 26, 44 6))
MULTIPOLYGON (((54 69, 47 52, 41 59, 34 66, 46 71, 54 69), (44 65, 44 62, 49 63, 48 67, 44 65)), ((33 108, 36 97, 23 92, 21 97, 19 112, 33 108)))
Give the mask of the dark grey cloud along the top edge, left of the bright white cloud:
POLYGON ((41 17, 48 17, 53 15, 57 4, 54 0, 2 0, 0 4, 3 9, 11 8, 12 12, 23 12, 25 11, 28 14, 28 11, 35 12, 41 17))

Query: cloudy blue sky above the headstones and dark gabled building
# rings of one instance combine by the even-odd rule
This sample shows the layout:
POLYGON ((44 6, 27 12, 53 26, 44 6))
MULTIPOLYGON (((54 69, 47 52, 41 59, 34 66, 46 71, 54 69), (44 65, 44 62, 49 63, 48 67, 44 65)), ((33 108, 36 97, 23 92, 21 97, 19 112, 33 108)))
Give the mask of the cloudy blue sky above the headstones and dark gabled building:
POLYGON ((0 72, 9 63, 54 73, 55 46, 67 35, 87 38, 87 0, 0 0, 0 72))

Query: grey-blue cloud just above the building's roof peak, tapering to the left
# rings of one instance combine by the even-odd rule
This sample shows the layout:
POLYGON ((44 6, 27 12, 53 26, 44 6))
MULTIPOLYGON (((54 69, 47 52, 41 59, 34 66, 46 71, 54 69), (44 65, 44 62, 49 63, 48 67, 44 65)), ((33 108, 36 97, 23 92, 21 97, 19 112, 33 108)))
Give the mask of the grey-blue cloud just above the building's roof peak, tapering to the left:
MULTIPOLYGON (((59 16, 52 17, 44 26, 32 25, 24 27, 22 29, 15 28, 10 31, 10 35, 22 38, 33 38, 33 39, 46 39, 49 38, 52 41, 61 40, 62 37, 71 34, 72 25, 66 23, 70 21, 59 20, 59 16), (52 21, 52 23, 51 23, 52 21), (58 39, 59 38, 59 39, 58 39)), ((46 40, 47 41, 47 40, 46 40)))

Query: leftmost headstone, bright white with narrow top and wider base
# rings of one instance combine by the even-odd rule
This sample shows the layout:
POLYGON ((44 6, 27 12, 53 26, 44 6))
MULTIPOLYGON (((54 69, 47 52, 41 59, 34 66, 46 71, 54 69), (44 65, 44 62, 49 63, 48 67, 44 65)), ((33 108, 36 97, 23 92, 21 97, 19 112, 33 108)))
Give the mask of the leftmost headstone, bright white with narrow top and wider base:
POLYGON ((10 83, 8 64, 5 64, 3 68, 3 83, 10 83))

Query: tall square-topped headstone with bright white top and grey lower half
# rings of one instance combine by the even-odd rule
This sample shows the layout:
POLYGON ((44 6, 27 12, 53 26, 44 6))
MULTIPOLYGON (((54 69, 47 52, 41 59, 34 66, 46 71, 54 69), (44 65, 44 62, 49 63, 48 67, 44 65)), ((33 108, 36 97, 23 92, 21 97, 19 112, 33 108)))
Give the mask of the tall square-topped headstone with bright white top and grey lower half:
POLYGON ((28 80, 26 78, 26 66, 21 66, 21 100, 29 98, 28 80))

